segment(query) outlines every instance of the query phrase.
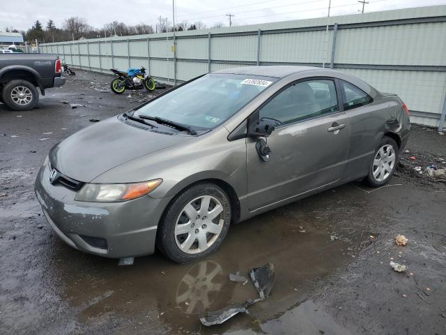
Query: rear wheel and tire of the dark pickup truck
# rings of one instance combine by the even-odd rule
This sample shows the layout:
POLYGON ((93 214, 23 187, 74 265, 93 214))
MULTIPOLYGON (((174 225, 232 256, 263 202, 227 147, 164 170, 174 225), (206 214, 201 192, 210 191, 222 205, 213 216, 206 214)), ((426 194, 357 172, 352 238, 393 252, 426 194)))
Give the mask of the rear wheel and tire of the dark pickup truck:
POLYGON ((26 80, 11 80, 3 87, 3 103, 11 110, 32 110, 39 101, 36 87, 26 80), (23 94, 23 96, 22 96, 23 94))

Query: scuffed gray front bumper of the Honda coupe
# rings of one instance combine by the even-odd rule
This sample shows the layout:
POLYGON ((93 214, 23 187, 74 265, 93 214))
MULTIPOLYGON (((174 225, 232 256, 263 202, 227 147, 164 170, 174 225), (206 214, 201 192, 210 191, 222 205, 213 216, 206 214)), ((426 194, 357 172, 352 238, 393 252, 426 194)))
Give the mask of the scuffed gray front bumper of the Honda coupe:
POLYGON ((171 200, 144 196, 125 202, 75 201, 75 191, 49 182, 46 166, 40 169, 34 190, 45 218, 63 241, 108 258, 151 255, 158 222, 171 200))

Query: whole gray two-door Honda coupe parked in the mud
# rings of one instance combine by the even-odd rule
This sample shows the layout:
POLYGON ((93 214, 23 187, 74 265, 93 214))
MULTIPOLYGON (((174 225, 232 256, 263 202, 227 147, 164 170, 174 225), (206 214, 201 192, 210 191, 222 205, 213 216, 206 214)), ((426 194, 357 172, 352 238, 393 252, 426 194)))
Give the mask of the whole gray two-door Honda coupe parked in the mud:
POLYGON ((364 179, 389 181, 408 108, 352 75, 250 66, 208 73, 71 135, 36 179, 63 241, 109 258, 213 253, 238 223, 364 179))

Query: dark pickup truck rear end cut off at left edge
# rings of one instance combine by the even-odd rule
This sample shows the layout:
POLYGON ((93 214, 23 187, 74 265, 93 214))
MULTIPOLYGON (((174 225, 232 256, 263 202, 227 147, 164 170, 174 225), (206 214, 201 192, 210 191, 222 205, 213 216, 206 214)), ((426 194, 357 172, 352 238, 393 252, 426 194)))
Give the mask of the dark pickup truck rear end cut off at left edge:
POLYGON ((31 110, 39 101, 38 89, 65 84, 56 54, 0 54, 0 102, 13 110, 31 110))

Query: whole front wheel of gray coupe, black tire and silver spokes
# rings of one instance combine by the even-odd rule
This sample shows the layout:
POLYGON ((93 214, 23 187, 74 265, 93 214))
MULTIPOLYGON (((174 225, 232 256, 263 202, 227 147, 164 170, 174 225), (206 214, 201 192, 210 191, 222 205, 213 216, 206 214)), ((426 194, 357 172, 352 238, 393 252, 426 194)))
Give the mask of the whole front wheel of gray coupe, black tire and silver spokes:
POLYGON ((222 244, 230 223, 231 203, 222 188, 196 184, 177 195, 167 208, 158 226, 157 248, 174 262, 198 260, 222 244))

